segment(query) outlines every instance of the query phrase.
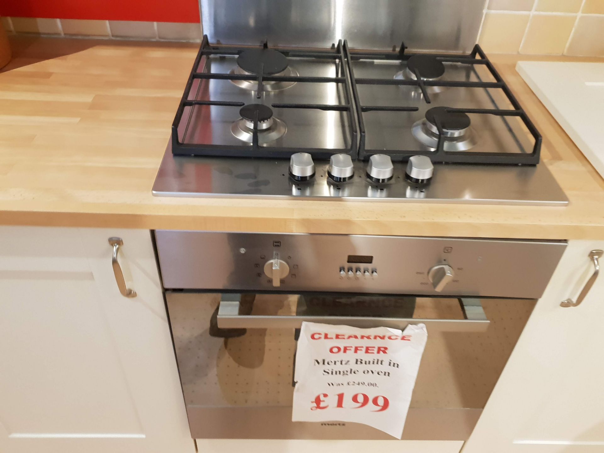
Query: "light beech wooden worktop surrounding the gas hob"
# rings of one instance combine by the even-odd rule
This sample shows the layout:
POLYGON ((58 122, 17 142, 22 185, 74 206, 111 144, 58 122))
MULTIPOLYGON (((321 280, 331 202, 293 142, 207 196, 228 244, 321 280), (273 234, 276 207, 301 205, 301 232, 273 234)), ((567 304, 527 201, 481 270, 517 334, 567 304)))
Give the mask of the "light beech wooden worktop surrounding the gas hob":
MULTIPOLYGON (((14 37, 0 72, 0 223, 418 236, 604 238, 604 181, 515 71, 568 207, 158 198, 151 194, 198 45, 14 37)), ((596 61, 598 61, 596 59, 596 61)), ((604 59, 599 61, 604 62, 604 59)))

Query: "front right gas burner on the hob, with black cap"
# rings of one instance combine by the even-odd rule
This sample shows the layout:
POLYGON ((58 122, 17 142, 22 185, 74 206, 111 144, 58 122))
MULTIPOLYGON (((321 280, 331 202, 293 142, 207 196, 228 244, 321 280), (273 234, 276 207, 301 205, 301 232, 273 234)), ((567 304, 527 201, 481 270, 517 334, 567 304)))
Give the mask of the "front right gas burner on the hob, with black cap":
POLYGON ((443 130, 443 149, 445 151, 467 151, 477 144, 476 134, 470 126, 470 117, 464 113, 447 112, 448 107, 433 107, 426 111, 423 120, 416 121, 411 127, 413 137, 420 143, 435 150, 439 143, 439 120, 443 130))

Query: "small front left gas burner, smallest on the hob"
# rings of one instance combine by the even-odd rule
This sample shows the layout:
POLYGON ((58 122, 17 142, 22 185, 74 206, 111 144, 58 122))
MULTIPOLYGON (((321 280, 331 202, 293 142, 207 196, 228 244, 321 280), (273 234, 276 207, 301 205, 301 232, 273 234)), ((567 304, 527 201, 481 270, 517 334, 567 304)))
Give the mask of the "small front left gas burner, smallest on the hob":
POLYGON ((239 114, 241 118, 231 126, 231 133, 239 140, 252 143, 254 121, 258 118, 258 144, 263 145, 283 137, 287 132, 285 123, 272 115, 272 109, 264 104, 247 104, 239 114))

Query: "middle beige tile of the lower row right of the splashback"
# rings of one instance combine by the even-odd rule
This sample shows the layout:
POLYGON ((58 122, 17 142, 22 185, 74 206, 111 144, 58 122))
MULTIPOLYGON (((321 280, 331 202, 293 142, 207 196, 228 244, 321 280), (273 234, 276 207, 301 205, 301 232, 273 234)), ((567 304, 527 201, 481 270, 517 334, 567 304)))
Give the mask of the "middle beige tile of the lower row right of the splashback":
POLYGON ((576 16, 535 14, 528 22, 520 53, 562 55, 576 19, 576 16))

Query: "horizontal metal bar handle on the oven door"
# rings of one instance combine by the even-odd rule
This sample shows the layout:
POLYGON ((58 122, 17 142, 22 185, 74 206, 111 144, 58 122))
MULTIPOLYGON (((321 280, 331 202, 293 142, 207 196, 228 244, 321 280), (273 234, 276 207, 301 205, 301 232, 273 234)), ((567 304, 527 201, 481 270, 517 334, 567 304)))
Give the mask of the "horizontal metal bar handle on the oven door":
POLYGON ((426 324, 428 330, 439 332, 484 332, 490 321, 484 314, 480 299, 460 298, 465 319, 426 320, 416 318, 375 318, 371 316, 294 316, 242 315, 239 300, 233 294, 224 294, 218 307, 217 324, 220 329, 300 329, 303 321, 309 323, 344 324, 353 327, 392 327, 405 329, 409 324, 426 324))

